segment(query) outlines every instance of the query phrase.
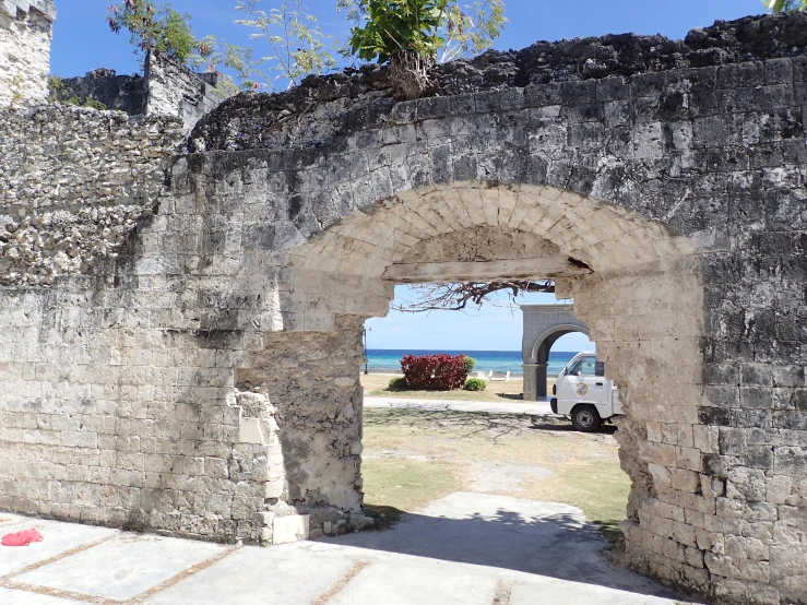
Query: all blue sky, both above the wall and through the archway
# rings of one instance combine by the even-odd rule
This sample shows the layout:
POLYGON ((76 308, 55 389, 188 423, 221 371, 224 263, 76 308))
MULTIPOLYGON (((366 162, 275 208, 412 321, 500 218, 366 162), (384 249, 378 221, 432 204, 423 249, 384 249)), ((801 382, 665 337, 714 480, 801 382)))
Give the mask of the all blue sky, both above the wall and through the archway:
MULTIPOLYGON (((128 34, 114 35, 106 26, 107 7, 112 0, 56 0, 59 16, 54 27, 51 72, 61 76, 82 75, 104 67, 118 73, 138 71, 138 60, 128 34)), ((468 0, 470 2, 471 0, 468 0)), ((711 25, 715 20, 737 19, 763 12, 759 0, 506 0, 510 23, 496 40, 499 49, 523 48, 546 39, 574 38, 634 32, 681 38, 689 29, 711 25)), ((193 15, 197 36, 214 34, 233 44, 247 45, 248 31, 235 25, 239 13, 235 0, 174 0, 179 12, 193 15)), ((282 0, 262 0, 266 9, 282 0)), ((318 15, 327 34, 344 39, 347 24, 335 11, 336 0, 304 3, 318 15)), ((257 44, 257 43, 253 43, 257 44)), ((257 52, 265 52, 257 46, 257 52)), ((397 289, 399 293, 404 290, 397 289)), ((523 302, 553 302, 551 295, 531 295, 523 302)), ((521 348, 521 312, 486 306, 482 311, 426 315, 390 312, 368 322, 371 348, 451 348, 518 351, 521 348)), ((581 334, 565 336, 557 351, 590 348, 581 334)))

